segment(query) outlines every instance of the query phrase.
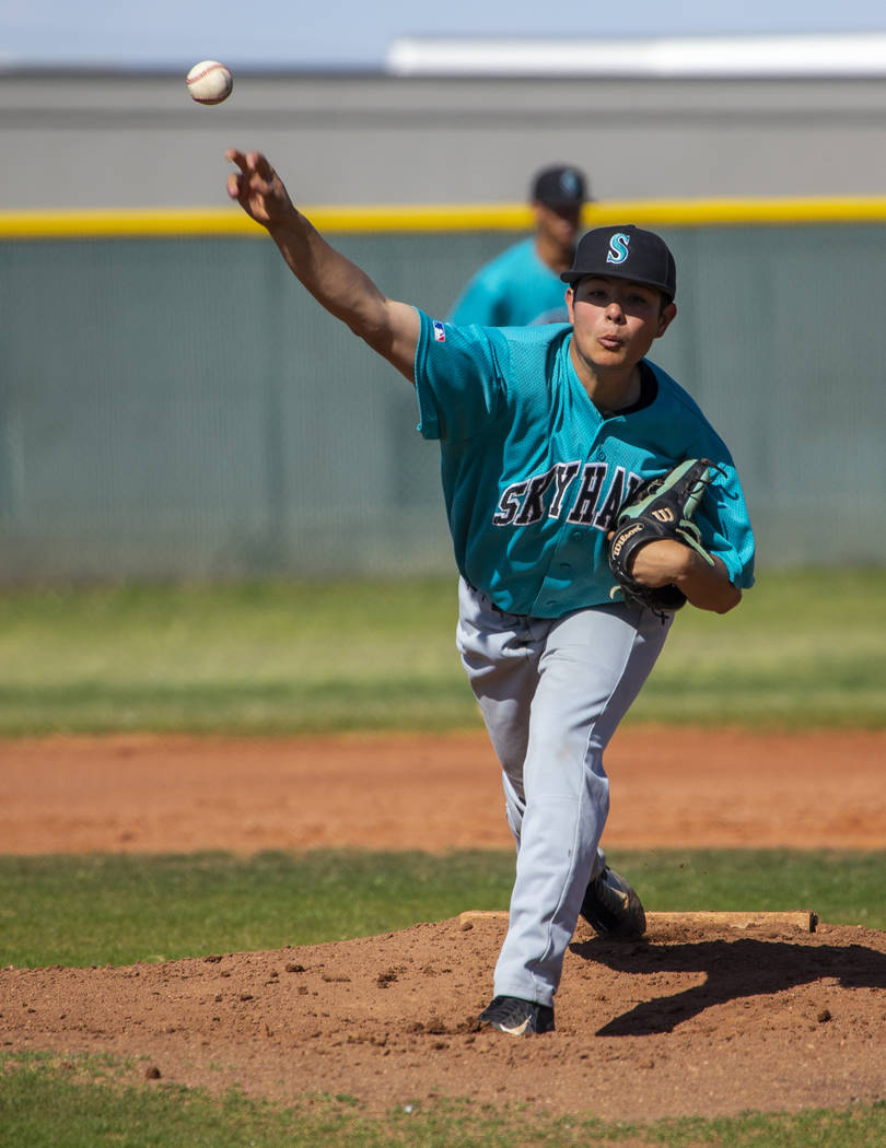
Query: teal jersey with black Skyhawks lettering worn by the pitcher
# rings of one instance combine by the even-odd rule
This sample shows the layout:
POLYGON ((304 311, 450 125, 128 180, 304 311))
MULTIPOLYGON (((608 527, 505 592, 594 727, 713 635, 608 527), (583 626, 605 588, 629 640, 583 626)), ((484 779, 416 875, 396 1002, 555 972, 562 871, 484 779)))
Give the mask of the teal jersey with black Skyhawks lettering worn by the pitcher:
POLYGON ((735 585, 753 584, 753 536, 732 457, 694 400, 645 360, 642 396, 603 418, 581 386, 572 328, 460 327, 423 312, 418 429, 438 439, 459 571, 501 610, 560 618, 608 603, 606 534, 641 482, 685 458, 715 476, 696 515, 735 585))

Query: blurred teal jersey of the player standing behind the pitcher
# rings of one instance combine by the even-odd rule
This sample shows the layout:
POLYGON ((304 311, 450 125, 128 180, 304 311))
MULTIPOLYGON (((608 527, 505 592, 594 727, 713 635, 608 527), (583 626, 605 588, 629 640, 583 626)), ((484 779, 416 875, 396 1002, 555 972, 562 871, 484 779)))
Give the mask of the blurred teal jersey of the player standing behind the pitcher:
POLYGON ((538 257, 531 238, 480 267, 455 302, 449 320, 486 327, 565 323, 565 292, 560 276, 538 257))

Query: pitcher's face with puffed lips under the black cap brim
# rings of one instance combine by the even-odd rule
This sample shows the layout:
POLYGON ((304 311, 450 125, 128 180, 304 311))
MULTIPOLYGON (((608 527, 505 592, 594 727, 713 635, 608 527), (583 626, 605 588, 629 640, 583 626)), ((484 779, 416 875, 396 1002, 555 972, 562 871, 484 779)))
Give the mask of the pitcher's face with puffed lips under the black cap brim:
POLYGON ((593 371, 631 367, 648 352, 677 313, 662 308, 654 287, 609 276, 587 276, 567 292, 575 349, 593 371))

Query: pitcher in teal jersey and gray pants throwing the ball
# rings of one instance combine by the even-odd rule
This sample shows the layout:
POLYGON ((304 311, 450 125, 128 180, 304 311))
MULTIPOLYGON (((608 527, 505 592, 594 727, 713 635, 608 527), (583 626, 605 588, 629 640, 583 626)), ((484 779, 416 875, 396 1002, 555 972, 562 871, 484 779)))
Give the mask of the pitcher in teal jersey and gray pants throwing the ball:
POLYGON ((228 192, 301 284, 414 383, 437 439, 460 572, 457 646, 502 769, 517 846, 509 925, 480 1024, 554 1027, 579 914, 637 937, 639 897, 606 862, 603 752, 673 614, 614 595, 607 540, 629 491, 673 463, 716 470, 703 549, 638 550, 633 577, 725 613, 753 584, 754 540, 732 458, 699 406, 647 358, 677 308, 673 258, 633 226, 588 232, 563 273, 570 321, 461 327, 387 298, 293 205, 268 160, 230 150, 228 192))

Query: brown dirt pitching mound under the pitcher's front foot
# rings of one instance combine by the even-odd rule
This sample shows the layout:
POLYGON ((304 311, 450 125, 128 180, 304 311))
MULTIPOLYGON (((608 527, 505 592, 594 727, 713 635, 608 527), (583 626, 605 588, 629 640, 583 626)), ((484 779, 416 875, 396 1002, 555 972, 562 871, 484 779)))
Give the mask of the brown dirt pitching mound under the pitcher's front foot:
POLYGON ((886 1096, 886 934, 583 924, 556 1031, 478 1032, 503 920, 126 968, 0 972, 7 1049, 134 1057, 141 1078, 370 1112, 441 1096, 607 1119, 886 1096))

